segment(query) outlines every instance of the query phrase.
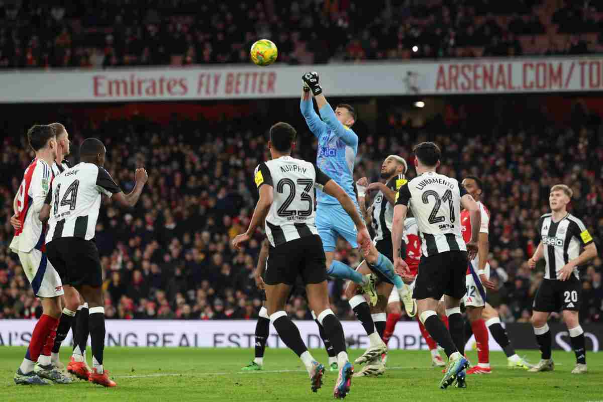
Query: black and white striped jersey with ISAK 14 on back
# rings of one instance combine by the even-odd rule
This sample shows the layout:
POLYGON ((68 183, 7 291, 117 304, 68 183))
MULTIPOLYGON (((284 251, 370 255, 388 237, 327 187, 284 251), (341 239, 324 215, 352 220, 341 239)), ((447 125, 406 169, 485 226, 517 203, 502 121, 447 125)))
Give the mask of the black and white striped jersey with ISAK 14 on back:
POLYGON ((81 237, 90 240, 95 235, 96 220, 101 207, 101 193, 112 196, 121 192, 104 168, 80 162, 52 180, 46 196, 50 205, 46 243, 59 237, 81 237))

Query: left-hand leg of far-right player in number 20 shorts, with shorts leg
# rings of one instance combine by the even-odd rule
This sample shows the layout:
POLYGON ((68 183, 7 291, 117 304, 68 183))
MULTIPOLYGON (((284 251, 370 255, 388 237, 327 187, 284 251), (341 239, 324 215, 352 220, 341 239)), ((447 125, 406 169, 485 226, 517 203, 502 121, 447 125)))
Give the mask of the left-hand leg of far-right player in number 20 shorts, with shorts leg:
POLYGON ((558 311, 561 306, 557 306, 557 297, 555 296, 554 280, 543 280, 538 287, 538 291, 534 297, 534 309, 532 310, 532 327, 536 342, 540 348, 540 362, 529 369, 531 372, 551 371, 555 368, 555 363, 551 359, 551 330, 546 321, 549 319, 549 314, 558 311))

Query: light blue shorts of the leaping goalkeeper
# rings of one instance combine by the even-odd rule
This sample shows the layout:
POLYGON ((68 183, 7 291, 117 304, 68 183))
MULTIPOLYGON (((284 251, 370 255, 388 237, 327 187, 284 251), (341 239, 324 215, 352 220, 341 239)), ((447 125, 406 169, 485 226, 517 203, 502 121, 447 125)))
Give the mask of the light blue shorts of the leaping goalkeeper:
POLYGON ((343 237, 352 248, 358 248, 356 225, 338 204, 318 204, 315 222, 324 251, 335 251, 338 236, 343 237))

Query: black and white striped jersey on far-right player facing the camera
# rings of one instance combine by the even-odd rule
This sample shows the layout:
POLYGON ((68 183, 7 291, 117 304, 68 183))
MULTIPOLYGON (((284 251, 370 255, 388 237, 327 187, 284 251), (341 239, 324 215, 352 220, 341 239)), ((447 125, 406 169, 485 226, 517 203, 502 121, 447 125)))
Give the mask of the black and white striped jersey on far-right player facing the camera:
MULTIPOLYGON (((593 242, 586 226, 570 213, 559 222, 553 221, 551 213, 545 213, 538 221, 538 230, 545 254, 545 279, 556 280, 561 268, 579 256, 582 245, 593 242)), ((573 275, 579 279, 578 267, 573 275)))

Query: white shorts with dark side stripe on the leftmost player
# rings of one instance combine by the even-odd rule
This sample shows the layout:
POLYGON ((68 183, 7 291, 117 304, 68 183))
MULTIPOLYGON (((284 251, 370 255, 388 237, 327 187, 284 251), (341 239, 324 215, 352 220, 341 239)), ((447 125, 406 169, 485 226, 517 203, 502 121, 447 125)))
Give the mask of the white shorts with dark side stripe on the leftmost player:
POLYGON ((29 253, 19 251, 19 260, 37 297, 57 297, 64 293, 61 278, 45 253, 35 248, 29 253))

